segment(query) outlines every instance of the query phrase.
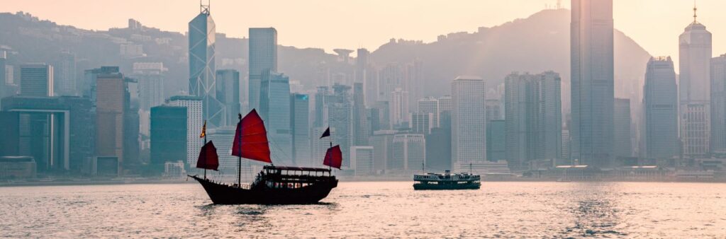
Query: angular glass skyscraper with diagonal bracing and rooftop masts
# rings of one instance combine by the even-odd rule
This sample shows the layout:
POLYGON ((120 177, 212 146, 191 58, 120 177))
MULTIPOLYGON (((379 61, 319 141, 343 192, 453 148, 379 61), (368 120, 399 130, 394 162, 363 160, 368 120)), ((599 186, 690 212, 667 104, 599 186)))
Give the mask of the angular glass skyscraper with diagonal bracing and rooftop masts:
POLYGON ((224 105, 216 99, 216 25, 209 6, 189 22, 189 95, 202 98, 203 119, 210 127, 221 125, 224 105))

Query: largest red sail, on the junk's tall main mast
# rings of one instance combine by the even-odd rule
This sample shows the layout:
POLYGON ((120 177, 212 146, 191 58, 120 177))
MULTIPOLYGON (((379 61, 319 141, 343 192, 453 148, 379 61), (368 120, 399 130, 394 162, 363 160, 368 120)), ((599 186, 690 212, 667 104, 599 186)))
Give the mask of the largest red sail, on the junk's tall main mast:
POLYGON ((234 133, 234 143, 232 143, 232 155, 272 163, 267 130, 255 109, 252 109, 252 112, 237 123, 237 132, 234 133))

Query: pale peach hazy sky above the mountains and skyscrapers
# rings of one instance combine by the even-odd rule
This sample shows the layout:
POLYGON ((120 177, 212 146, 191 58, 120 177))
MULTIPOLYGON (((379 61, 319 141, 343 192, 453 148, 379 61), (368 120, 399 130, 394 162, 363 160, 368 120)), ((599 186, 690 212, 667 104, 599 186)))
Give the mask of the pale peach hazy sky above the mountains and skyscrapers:
MULTIPOLYGON (((207 1, 207 0, 204 0, 207 1)), ((437 35, 476 31, 528 17, 557 0, 213 0, 217 33, 246 37, 250 27, 277 28, 285 46, 377 49, 389 38, 431 42, 437 35)), ((569 8, 570 1, 562 6, 569 8)), ((614 0, 615 28, 655 56, 677 56, 677 37, 693 21, 692 0, 614 0)), ((714 34, 714 56, 726 53, 726 1, 699 0, 698 21, 714 34)), ((0 11, 25 11, 62 25, 106 30, 129 18, 144 25, 187 31, 197 0, 4 1, 0 11)))

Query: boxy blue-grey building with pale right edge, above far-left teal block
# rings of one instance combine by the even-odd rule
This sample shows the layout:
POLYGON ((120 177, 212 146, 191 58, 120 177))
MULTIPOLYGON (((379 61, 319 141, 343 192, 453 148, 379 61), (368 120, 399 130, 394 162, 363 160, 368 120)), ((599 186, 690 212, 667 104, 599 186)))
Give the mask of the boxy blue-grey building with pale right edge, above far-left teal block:
POLYGON ((20 66, 21 96, 54 96, 53 67, 49 64, 20 66))

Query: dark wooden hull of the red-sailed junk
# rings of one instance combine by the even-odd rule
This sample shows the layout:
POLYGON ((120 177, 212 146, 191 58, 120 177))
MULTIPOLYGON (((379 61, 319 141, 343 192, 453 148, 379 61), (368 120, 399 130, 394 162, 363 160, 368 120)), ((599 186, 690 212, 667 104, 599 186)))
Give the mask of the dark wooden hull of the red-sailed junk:
POLYGON ((189 177, 202 185, 213 204, 317 204, 327 197, 330 190, 338 186, 338 180, 333 180, 303 188, 267 188, 256 185, 246 189, 214 183, 197 176, 189 177))

